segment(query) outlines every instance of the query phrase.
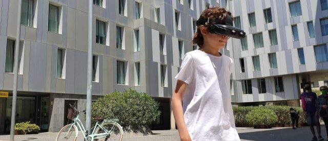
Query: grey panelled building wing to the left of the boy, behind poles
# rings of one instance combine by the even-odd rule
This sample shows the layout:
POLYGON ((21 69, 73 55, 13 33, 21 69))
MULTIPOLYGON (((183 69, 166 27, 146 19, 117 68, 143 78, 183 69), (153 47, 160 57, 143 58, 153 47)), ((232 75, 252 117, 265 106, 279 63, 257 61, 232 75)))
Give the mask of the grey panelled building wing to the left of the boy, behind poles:
MULTIPOLYGON (((86 107, 87 0, 23 0, 16 123, 43 131, 66 125, 69 104, 86 107)), ((134 88, 160 103, 153 129, 175 128, 170 98, 174 76, 195 21, 219 1, 94 0, 92 99, 134 88)), ((9 133, 18 0, 0 1, 0 134, 9 133)))

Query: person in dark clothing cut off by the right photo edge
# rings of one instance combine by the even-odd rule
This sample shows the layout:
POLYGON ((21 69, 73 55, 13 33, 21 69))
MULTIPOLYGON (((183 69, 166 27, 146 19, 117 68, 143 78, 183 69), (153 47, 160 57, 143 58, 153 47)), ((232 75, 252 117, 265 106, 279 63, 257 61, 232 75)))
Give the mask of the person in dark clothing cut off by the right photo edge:
POLYGON ((326 128, 326 134, 328 135, 328 87, 321 86, 320 87, 321 95, 318 97, 316 101, 317 111, 319 112, 322 120, 324 122, 326 128))

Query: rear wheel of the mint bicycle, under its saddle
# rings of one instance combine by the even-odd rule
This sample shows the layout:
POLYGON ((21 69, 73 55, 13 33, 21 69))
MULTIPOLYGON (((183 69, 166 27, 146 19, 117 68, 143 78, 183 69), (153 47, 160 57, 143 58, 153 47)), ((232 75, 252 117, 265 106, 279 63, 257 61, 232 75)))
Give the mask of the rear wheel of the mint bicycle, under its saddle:
POLYGON ((97 127, 95 134, 109 133, 108 135, 95 136, 94 140, 115 140, 121 141, 123 130, 121 126, 114 122, 106 122, 97 127))

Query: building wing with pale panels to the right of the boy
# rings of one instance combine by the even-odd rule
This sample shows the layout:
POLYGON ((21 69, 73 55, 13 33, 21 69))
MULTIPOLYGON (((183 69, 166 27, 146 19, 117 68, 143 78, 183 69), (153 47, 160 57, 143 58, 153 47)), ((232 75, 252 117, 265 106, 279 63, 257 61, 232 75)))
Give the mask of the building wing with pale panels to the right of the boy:
POLYGON ((228 8, 247 34, 227 47, 236 105, 299 106, 302 84, 327 85, 326 0, 233 0, 228 8))

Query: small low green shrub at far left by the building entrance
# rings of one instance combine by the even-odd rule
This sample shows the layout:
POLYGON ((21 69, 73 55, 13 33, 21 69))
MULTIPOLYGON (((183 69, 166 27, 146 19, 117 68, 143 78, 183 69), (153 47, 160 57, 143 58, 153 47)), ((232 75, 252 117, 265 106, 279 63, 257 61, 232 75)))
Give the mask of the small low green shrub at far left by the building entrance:
POLYGON ((30 122, 17 123, 15 125, 15 130, 22 134, 37 134, 40 131, 40 127, 31 124, 30 122))

